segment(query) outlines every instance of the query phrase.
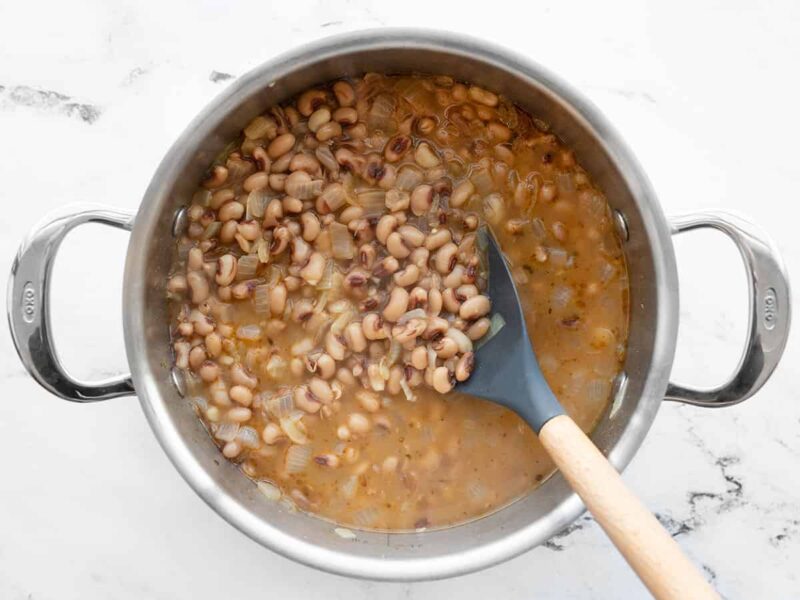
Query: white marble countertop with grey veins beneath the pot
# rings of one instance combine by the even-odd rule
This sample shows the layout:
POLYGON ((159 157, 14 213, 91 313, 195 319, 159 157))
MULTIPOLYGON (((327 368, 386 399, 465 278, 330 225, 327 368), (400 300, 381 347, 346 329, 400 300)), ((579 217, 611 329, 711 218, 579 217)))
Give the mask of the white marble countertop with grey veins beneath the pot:
MULTIPOLYGON (((617 125, 667 213, 752 216, 800 275, 800 5, 632 0, 488 7, 449 3, 4 2, 0 5, 0 273, 24 232, 75 201, 134 209, 172 140, 229 80, 328 34, 446 26, 560 73, 617 125), (681 3, 678 3, 681 4, 681 3), (795 74, 793 74, 795 73, 795 74), (216 75, 215 75, 216 74, 216 75)), ((125 369, 126 235, 85 227, 54 275, 55 334, 87 378, 125 369), (103 248, 98 252, 98 246, 103 248), (88 293, 87 293, 88 292, 88 293)), ((677 243, 674 378, 733 368, 747 309, 733 247, 677 243)), ((796 279, 798 279, 796 277, 796 279)), ((625 479, 727 598, 800 595, 797 336, 752 400, 666 404, 625 479)), ((422 584, 348 580, 295 564, 217 517, 160 450, 133 398, 79 406, 24 372, 0 327, 0 598, 638 598, 599 527, 481 573, 422 584)))

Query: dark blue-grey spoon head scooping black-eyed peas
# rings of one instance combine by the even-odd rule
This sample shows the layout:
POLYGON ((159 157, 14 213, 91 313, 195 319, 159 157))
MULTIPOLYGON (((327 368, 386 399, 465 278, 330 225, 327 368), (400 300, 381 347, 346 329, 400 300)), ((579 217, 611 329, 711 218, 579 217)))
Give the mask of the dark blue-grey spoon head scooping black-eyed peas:
POLYGON ((514 410, 538 432, 563 409, 539 368, 508 263, 486 227, 478 231, 478 248, 486 256, 493 323, 477 343, 472 375, 455 389, 514 410))

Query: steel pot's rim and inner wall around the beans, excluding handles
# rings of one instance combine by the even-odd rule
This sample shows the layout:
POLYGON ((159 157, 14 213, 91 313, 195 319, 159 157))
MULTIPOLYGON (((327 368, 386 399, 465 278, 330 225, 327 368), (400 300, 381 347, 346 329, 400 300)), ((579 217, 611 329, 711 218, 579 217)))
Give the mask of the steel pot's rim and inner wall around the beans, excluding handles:
POLYGON ((170 150, 147 190, 131 238, 125 281, 128 354, 142 406, 162 445, 189 483, 245 533, 282 554, 338 573, 423 579, 475 570, 557 533, 581 505, 560 475, 503 510, 457 527, 345 540, 334 525, 270 503, 223 459, 171 376, 165 289, 176 211, 209 163, 272 104, 343 75, 369 71, 450 75, 504 94, 552 130, 625 217, 630 276, 627 385, 592 439, 619 468, 638 448, 666 387, 676 334, 672 247, 647 181, 616 136, 548 74, 500 51, 439 34, 361 34, 283 57, 222 93, 170 150), (658 285, 658 283, 662 285, 658 285))

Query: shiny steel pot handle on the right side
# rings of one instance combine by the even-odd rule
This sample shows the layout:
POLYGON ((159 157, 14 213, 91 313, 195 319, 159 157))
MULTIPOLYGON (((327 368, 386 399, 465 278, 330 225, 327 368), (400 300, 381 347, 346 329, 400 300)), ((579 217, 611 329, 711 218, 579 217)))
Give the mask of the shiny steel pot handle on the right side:
POLYGON ((696 406, 730 406, 746 400, 766 383, 789 337, 789 279, 772 240, 746 219, 721 211, 671 219, 672 232, 711 228, 730 237, 747 272, 750 308, 747 342, 730 380, 712 390, 696 390, 670 382, 666 399, 696 406))

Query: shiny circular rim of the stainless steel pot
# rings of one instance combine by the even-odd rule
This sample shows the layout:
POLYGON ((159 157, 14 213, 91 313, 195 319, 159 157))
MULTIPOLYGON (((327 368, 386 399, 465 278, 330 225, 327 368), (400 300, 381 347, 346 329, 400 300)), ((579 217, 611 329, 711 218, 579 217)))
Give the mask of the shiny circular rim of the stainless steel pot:
MULTIPOLYGON (((238 98, 262 89, 309 62, 356 51, 386 49, 387 47, 436 50, 469 56, 489 63, 506 72, 535 80, 558 96, 569 107, 571 116, 592 130, 601 141, 608 156, 619 169, 631 194, 640 205, 647 239, 652 247, 657 289, 654 360, 647 375, 646 393, 639 401, 631 422, 609 453, 609 461, 618 470, 630 462, 652 424, 666 390, 675 353, 678 324, 677 272, 669 228, 656 195, 643 170, 625 143, 597 108, 570 86, 538 64, 494 44, 465 36, 425 29, 369 29, 340 34, 315 41, 291 50, 252 69, 212 100, 186 127, 168 150, 145 192, 130 237, 125 265, 123 319, 125 346, 135 388, 142 409, 156 438, 176 469, 200 497, 231 525, 261 545, 298 562, 330 573, 367 579, 416 581, 440 579, 484 569, 521 554, 566 527, 585 510, 573 493, 553 512, 555 526, 542 519, 510 532, 494 542, 453 552, 435 558, 385 559, 363 557, 321 548, 303 539, 288 535, 260 519, 228 495, 213 477, 199 464, 189 450, 188 442, 180 435, 168 414, 164 398, 158 392, 152 372, 142 357, 146 355, 141 312, 138 306, 141 291, 147 285, 143 261, 138 260, 137 248, 145 248, 150 233, 160 218, 159 199, 169 189, 171 181, 187 155, 200 140, 212 135, 220 115, 238 105, 238 98)), ((141 252, 141 250, 139 250, 141 252)), ((392 534, 414 535, 414 534, 392 534)))

